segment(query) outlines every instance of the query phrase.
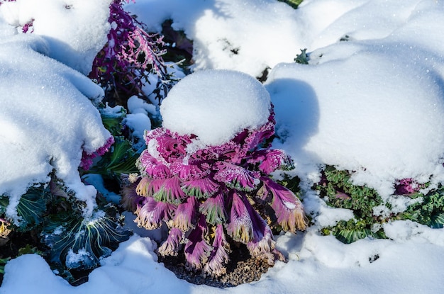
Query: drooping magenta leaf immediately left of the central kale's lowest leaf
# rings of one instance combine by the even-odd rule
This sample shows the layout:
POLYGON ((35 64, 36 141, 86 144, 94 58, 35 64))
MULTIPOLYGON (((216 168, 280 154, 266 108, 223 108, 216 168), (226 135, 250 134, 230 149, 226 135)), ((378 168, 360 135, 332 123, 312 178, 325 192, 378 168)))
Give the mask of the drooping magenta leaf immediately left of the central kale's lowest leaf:
POLYGON ((185 244, 184 253, 185 259, 187 259, 187 268, 192 270, 201 269, 208 261, 213 247, 206 242, 206 234, 208 234, 208 227, 206 226, 205 216, 201 215, 196 227, 189 233, 188 242, 185 244))

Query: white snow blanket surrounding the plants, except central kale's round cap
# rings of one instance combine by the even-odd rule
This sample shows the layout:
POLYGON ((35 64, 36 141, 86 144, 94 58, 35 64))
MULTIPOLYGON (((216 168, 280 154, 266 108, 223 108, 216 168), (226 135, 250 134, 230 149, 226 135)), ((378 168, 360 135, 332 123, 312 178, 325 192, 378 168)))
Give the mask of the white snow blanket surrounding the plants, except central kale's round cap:
MULTIPOLYGON (((103 45, 106 1, 71 2, 0 6, 0 193, 17 194, 30 181, 45 181, 49 159, 72 188, 92 189, 79 183, 74 170, 83 150, 94 152, 108 133, 87 103, 101 90, 79 72, 103 45), (66 14, 53 18, 61 24, 39 23, 45 5, 56 16, 66 14), (89 16, 91 9, 97 17, 89 16), (31 18, 35 32, 17 35, 14 26, 31 18), (77 22, 81 32, 95 33, 60 35, 63 26, 77 22), (57 53, 54 48, 63 44, 75 54, 57 53), (60 113, 66 108, 70 115, 60 113), (81 108, 89 120, 80 118, 81 108), (60 117, 67 127, 60 128, 60 117)), ((294 10, 274 0, 138 0, 126 7, 153 30, 171 18, 173 28, 194 40, 196 71, 235 69, 258 77, 270 67, 265 87, 282 138, 274 147, 292 155, 294 174, 305 186, 318 179, 318 164, 357 171, 356 183, 386 199, 396 179, 444 180, 444 1, 305 0, 294 10), (304 48, 310 65, 294 64, 304 48)), ((157 263, 152 240, 135 234, 78 287, 52 273, 38 255, 13 259, 0 293, 442 292, 443 230, 396 221, 384 227, 390 239, 345 245, 318 233, 342 210, 328 208, 310 191, 304 205, 315 225, 279 236, 277 246, 289 262, 277 262, 255 283, 223 290, 179 280, 157 263)))

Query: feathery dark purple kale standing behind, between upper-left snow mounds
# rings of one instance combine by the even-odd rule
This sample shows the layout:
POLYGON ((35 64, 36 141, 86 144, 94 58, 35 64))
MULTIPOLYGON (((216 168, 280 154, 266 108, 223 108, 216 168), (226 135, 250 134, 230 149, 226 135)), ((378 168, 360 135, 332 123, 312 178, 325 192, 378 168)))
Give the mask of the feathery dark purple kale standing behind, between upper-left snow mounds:
POLYGON ((160 92, 166 93, 168 87, 167 69, 161 57, 165 50, 160 50, 162 37, 145 32, 143 24, 123 10, 122 2, 111 2, 108 42, 96 56, 89 77, 114 96, 111 101, 121 99, 123 102, 119 102, 124 105, 130 96, 148 96, 150 93, 143 93, 143 85, 150 83, 150 74, 156 74, 160 100, 160 92))

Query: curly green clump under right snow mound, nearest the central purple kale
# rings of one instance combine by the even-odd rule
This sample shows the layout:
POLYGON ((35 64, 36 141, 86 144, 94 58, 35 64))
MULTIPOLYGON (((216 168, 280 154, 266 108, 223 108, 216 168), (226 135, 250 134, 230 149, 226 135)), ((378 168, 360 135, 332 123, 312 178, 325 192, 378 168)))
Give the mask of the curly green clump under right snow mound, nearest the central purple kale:
POLYGON ((348 171, 339 171, 333 166, 326 166, 323 179, 315 188, 328 205, 353 210, 355 215, 353 220, 342 220, 333 227, 323 228, 323 234, 333 234, 347 244, 365 237, 385 237, 378 226, 385 220, 373 214, 373 208, 382 204, 374 189, 353 185, 348 171), (375 230, 375 227, 378 229, 375 230))

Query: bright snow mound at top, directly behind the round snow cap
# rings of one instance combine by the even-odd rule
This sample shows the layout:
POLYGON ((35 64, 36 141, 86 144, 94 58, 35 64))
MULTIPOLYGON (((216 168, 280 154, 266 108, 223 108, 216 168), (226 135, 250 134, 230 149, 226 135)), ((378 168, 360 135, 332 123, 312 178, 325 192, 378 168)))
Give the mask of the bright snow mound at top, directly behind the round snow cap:
POLYGON ((172 19, 172 28, 193 40, 195 69, 236 69, 260 77, 267 67, 292 61, 298 40, 308 33, 301 29, 306 23, 298 18, 299 11, 273 0, 165 0, 158 6, 136 1, 126 8, 152 30, 172 19), (254 31, 250 23, 255 23, 254 31), (282 35, 292 38, 283 40, 282 35))

